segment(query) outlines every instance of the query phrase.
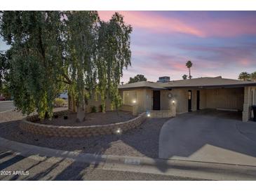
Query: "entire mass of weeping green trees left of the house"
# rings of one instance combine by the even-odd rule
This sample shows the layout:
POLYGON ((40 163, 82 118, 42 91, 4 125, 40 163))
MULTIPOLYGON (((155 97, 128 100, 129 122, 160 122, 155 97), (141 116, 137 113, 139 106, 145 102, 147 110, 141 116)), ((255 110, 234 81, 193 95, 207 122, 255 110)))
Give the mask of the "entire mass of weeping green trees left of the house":
POLYGON ((130 65, 130 33, 123 16, 102 22, 95 11, 4 11, 1 35, 11 46, 10 88, 15 106, 40 118, 53 114, 53 100, 69 90, 84 119, 86 100, 100 93, 105 111, 121 104, 123 68, 130 65))

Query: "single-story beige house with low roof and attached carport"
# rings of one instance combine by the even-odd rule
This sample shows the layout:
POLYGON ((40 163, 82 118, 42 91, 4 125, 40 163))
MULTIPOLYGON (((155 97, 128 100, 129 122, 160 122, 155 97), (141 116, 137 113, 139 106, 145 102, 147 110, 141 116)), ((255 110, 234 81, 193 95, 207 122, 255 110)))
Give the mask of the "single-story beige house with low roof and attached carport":
POLYGON ((252 118, 256 104, 256 82, 217 77, 191 78, 168 82, 140 81, 119 85, 123 104, 137 104, 138 111, 169 110, 176 114, 199 109, 242 111, 243 121, 252 118))

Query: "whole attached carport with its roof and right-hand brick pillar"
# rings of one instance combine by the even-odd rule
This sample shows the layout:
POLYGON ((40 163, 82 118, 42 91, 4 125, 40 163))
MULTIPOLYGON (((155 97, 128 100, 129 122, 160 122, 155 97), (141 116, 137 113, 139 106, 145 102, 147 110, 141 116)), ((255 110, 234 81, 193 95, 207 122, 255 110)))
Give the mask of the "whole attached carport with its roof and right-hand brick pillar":
POLYGON ((170 82, 166 88, 172 92, 173 100, 177 101, 177 114, 214 109, 214 116, 218 112, 221 116, 225 115, 222 111, 231 111, 229 114, 248 121, 252 118, 251 106, 256 104, 256 82, 252 81, 238 81, 220 76, 194 78, 170 82))

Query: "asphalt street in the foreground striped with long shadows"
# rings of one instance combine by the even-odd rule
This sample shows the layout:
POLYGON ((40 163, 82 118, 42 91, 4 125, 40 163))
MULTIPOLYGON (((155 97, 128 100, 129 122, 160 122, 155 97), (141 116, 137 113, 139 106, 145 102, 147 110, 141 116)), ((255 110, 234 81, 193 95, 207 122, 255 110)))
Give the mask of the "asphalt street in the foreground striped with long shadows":
POLYGON ((0 151, 0 180, 88 180, 88 181, 154 181, 194 180, 161 174, 102 170, 100 166, 71 159, 20 156, 0 151))

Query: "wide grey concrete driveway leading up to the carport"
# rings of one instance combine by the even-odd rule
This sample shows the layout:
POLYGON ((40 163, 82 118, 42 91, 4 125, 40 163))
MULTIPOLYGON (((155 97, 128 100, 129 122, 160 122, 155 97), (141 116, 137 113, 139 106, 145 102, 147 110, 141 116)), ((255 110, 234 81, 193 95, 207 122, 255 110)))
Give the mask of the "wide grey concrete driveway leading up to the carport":
POLYGON ((256 123, 223 117, 192 112, 171 118, 161 128, 159 158, 256 166, 256 123))

